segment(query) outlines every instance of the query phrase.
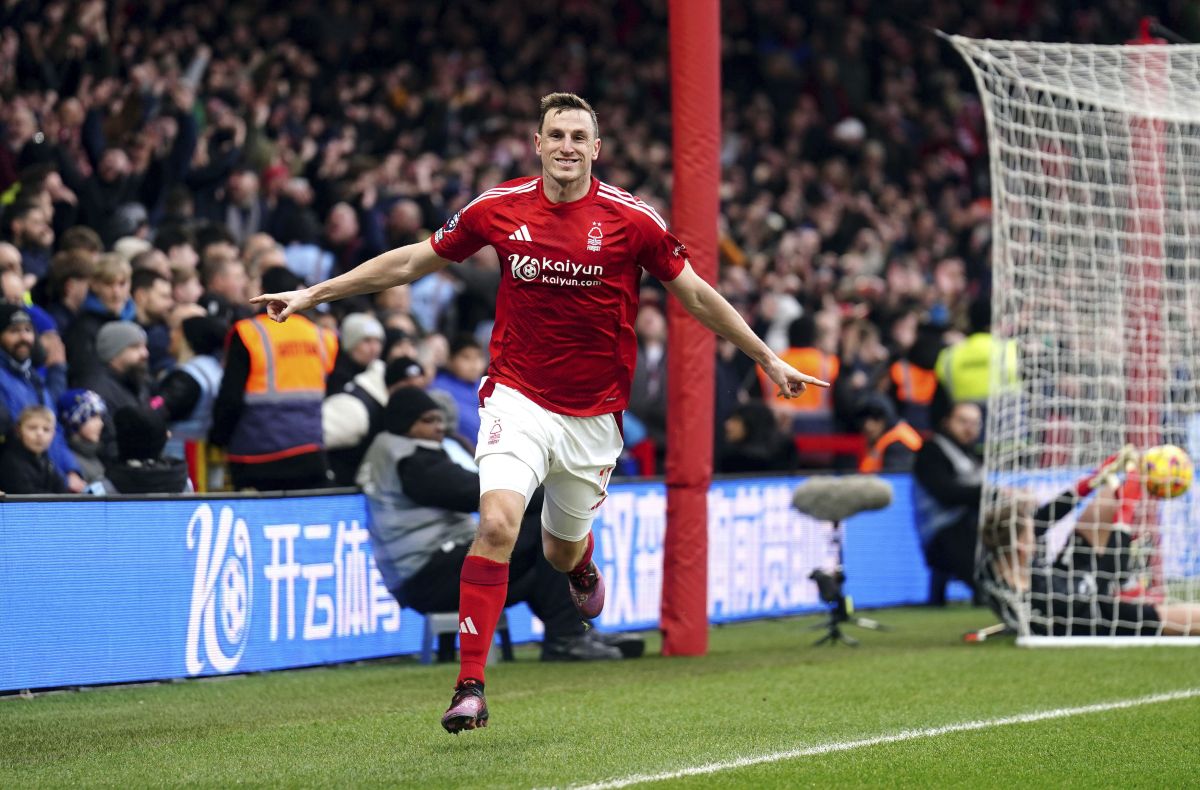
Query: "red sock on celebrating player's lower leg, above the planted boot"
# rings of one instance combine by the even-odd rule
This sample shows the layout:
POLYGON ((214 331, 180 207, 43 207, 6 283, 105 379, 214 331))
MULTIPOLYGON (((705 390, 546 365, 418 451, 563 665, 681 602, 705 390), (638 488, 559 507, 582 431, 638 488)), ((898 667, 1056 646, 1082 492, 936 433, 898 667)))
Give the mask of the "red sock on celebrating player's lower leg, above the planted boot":
POLYGON ((509 563, 468 555, 458 576, 458 682, 484 682, 487 651, 509 594, 509 563))

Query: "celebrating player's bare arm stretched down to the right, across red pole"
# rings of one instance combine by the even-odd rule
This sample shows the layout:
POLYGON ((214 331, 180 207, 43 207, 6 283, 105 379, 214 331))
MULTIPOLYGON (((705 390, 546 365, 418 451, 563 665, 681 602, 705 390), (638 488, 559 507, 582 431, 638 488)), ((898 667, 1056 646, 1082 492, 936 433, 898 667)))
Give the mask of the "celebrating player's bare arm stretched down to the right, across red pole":
POLYGON ((758 335, 754 334, 754 330, 746 325, 733 305, 695 273, 690 263, 684 263, 683 271, 679 273, 678 277, 662 285, 700 323, 732 342, 750 359, 762 365, 770 381, 779 385, 779 394, 784 397, 798 396, 809 384, 829 385, 829 382, 802 373, 780 359, 775 352, 767 347, 767 343, 762 342, 758 335))

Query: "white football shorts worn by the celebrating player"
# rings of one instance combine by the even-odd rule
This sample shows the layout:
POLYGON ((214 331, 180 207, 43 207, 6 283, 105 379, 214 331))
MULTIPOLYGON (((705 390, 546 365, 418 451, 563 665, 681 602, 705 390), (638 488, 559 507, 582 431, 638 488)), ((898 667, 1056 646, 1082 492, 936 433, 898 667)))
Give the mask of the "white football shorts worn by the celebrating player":
POLYGON ((479 409, 480 493, 517 491, 528 501, 544 483, 542 528, 563 540, 583 540, 608 496, 622 447, 616 414, 556 414, 497 384, 479 409))

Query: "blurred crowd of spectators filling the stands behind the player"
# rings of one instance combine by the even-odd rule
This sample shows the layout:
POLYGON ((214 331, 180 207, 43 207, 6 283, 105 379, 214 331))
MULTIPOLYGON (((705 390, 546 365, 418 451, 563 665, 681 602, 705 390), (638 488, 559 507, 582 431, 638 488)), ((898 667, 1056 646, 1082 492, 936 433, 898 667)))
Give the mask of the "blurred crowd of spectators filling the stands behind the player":
MULTIPOLYGON (((1159 5, 1200 36, 1193 4, 1159 5)), ((794 433, 874 420, 872 442, 901 437, 900 423, 928 435, 935 384, 955 395, 944 351, 986 333, 983 113, 931 31, 1110 43, 1136 18, 1120 0, 724 5, 719 288, 835 387, 776 401, 720 343, 719 471, 794 468, 794 433)), ((0 22, 0 427, 35 490, 61 490, 48 471, 71 491, 114 490, 104 469, 133 463, 154 474, 124 490, 178 491, 181 439, 248 442, 248 297, 424 238, 536 172, 544 94, 588 97, 606 142, 598 175, 670 216, 664 0, 48 0, 5 4, 0 22), (223 360, 245 391, 222 384, 223 360)), ((337 483, 353 483, 388 391, 406 384, 442 393, 469 449, 499 276, 481 253, 312 316, 338 336, 322 365, 341 406, 326 405, 316 447, 340 454, 337 483)), ((630 447, 659 451, 664 304, 647 280, 626 421, 630 447)), ((306 419, 275 430, 311 431, 306 419)), ((259 437, 290 453, 287 439, 259 437)), ((299 468, 268 479, 311 483, 299 468)))

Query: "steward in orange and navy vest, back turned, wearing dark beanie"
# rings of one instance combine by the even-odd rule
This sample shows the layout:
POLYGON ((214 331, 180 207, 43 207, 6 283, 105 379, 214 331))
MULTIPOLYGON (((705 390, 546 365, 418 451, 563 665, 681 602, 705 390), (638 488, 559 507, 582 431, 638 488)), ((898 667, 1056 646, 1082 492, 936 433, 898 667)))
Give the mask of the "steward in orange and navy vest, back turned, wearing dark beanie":
MULTIPOLYGON (((263 275, 263 288, 300 286, 288 269, 263 275)), ((330 483, 320 403, 337 336, 305 316, 294 318, 277 323, 264 311, 229 333, 209 441, 227 449, 235 489, 320 489, 330 483)))

